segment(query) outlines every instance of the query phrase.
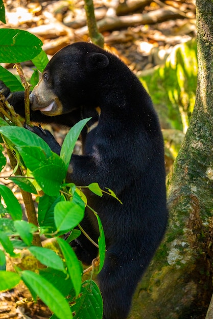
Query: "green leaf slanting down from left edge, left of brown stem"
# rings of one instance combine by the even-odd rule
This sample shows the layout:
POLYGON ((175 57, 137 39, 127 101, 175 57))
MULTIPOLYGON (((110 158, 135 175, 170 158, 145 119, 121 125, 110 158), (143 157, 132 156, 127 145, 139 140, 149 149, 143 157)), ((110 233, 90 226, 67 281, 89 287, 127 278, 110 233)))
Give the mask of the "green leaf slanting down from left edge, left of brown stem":
POLYGON ((0 185, 0 194, 3 197, 7 209, 13 220, 22 218, 21 205, 19 204, 17 198, 14 196, 13 192, 5 185, 0 185))

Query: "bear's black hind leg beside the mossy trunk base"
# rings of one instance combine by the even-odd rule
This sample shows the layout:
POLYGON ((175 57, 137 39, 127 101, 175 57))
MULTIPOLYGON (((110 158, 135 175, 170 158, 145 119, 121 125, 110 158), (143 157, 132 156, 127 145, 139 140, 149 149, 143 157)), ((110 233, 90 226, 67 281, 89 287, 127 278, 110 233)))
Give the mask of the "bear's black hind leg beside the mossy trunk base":
POLYGON ((103 319, 126 319, 129 314, 135 288, 144 272, 139 260, 130 255, 115 257, 107 251, 98 278, 104 303, 103 319))

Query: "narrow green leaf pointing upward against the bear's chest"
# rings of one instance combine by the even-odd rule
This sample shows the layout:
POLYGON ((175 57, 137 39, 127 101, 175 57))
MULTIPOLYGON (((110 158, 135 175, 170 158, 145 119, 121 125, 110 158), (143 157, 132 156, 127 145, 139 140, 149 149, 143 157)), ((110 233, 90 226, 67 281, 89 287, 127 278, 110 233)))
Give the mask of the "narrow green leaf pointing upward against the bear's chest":
POLYGON ((68 169, 69 162, 71 155, 73 153, 74 146, 76 144, 76 141, 79 138, 80 132, 82 131, 82 128, 86 125, 86 123, 90 120, 83 119, 79 121, 77 124, 75 124, 66 135, 64 142, 61 147, 60 157, 63 159, 66 170, 68 169))

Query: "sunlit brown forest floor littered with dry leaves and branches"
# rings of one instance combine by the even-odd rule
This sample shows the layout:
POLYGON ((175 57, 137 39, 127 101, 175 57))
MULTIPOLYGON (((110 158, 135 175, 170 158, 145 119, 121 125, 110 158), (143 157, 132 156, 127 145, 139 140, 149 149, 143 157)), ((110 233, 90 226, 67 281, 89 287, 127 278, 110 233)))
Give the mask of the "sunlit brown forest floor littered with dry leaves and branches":
MULTIPOLYGON (((4 0, 7 24, 0 28, 23 29, 38 36, 50 56, 75 41, 89 41, 84 1, 4 0)), ((94 0, 98 25, 106 48, 117 54, 137 75, 163 64, 172 48, 196 36, 195 0, 94 0)), ((12 65, 2 64, 12 69, 12 65)), ((22 64, 26 76, 32 64, 22 64)), ((60 132, 58 133, 60 139, 60 132)), ((63 135, 63 133, 62 133, 63 135)), ((8 164, 3 174, 12 173, 8 164)), ((5 179, 0 182, 6 183, 5 179)), ((18 189, 8 186, 19 200, 18 189)), ((24 285, 0 294, 0 319, 46 319, 50 311, 41 302, 15 308, 15 302, 29 297, 24 285)))

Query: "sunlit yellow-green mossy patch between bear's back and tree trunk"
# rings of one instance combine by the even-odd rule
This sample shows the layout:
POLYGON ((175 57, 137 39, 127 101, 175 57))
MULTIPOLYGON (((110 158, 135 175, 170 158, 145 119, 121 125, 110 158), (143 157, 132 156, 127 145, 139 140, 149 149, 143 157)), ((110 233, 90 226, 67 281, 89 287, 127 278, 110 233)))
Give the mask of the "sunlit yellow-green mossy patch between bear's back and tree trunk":
POLYGON ((195 104, 197 87, 196 40, 176 45, 165 65, 141 78, 165 128, 186 132, 195 104))

